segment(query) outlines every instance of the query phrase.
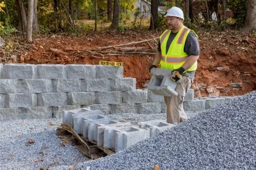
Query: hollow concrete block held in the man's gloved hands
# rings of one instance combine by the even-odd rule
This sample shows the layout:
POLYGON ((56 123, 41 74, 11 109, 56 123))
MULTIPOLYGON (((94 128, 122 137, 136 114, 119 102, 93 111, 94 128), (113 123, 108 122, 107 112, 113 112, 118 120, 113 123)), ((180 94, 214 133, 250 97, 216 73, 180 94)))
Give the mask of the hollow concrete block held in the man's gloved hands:
POLYGON ((177 96, 177 92, 175 91, 177 84, 171 80, 170 75, 171 70, 155 69, 150 82, 146 83, 146 87, 155 95, 177 96))

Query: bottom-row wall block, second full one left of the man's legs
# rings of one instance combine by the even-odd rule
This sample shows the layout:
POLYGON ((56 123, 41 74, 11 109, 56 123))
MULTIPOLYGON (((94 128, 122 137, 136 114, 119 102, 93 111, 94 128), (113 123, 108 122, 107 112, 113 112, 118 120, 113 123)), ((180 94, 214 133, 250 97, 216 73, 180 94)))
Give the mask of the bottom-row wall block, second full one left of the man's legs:
POLYGON ((110 104, 110 114, 113 113, 136 113, 135 104, 110 104))

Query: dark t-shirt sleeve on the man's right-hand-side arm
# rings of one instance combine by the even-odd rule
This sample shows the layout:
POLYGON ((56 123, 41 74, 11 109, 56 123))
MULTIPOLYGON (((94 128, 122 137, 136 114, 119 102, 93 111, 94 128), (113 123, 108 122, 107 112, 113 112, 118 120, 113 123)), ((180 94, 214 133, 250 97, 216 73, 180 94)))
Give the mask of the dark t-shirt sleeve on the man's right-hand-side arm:
POLYGON ((195 33, 192 31, 188 33, 187 39, 185 41, 184 52, 187 53, 188 56, 197 56, 200 54, 199 42, 195 33))

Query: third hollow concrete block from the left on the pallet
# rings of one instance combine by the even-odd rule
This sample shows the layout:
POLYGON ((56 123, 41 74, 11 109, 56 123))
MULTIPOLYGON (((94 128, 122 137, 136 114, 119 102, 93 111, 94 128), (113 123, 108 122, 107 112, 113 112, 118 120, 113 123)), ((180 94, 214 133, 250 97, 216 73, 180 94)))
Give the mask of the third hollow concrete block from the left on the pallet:
POLYGON ((90 116, 84 116, 82 117, 82 136, 84 138, 88 138, 88 127, 90 122, 101 122, 105 120, 114 120, 113 117, 106 116, 104 114, 94 114, 90 116))

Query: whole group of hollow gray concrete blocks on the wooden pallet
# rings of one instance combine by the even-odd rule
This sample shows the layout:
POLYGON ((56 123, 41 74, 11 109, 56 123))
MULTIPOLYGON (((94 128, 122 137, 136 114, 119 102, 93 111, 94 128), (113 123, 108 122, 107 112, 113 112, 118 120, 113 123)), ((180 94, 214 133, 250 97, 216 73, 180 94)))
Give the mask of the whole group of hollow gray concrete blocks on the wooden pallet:
POLYGON ((97 145, 105 148, 114 148, 115 152, 174 126, 165 120, 154 120, 141 122, 138 127, 90 108, 64 111, 63 122, 71 125, 77 134, 89 141, 96 141, 97 145))

